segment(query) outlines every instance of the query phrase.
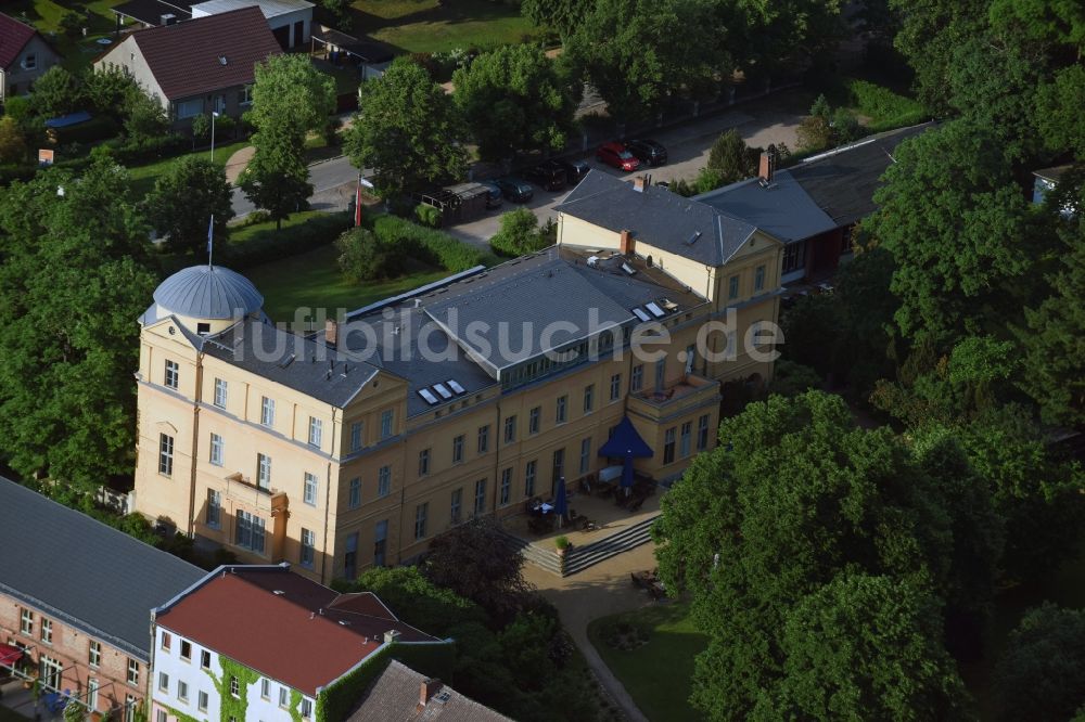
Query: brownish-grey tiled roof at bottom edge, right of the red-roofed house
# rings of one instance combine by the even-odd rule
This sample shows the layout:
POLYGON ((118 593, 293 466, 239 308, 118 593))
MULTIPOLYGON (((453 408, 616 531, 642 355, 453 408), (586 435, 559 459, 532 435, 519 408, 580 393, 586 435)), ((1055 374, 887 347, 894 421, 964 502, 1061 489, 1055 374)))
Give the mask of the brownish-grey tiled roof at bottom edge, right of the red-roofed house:
MULTIPOLYGON (((441 683, 427 685, 425 706, 419 709, 424 674, 406 665, 392 660, 373 680, 361 705, 347 718, 347 722, 387 720, 395 722, 512 722, 510 718, 464 697, 441 683)), ((554 704, 560 704, 560 692, 554 692, 554 704)))

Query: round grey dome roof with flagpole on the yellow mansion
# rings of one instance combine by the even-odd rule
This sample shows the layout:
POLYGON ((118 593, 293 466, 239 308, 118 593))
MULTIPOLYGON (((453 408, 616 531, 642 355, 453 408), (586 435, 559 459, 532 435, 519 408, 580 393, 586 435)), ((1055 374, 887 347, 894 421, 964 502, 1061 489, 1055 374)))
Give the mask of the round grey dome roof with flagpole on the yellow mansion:
POLYGON ((173 274, 154 289, 154 301, 165 311, 195 319, 232 319, 264 306, 264 296, 245 276, 221 266, 192 266, 173 274))

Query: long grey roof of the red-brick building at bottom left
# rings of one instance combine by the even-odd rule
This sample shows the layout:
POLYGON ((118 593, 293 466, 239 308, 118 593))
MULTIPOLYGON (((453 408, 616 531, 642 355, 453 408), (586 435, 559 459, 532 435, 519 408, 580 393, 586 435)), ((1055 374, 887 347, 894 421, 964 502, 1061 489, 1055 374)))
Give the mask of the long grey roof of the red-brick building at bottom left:
POLYGON ((0 477, 0 591, 146 662, 151 609, 206 572, 0 477))

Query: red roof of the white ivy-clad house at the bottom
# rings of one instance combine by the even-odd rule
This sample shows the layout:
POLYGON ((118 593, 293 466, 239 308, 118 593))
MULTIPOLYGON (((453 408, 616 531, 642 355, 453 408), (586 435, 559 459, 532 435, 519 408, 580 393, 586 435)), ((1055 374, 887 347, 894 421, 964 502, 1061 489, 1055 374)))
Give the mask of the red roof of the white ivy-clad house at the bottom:
POLYGON ((157 624, 307 695, 372 654, 386 631, 436 641, 371 593, 339 594, 285 567, 229 569, 158 611, 157 624))

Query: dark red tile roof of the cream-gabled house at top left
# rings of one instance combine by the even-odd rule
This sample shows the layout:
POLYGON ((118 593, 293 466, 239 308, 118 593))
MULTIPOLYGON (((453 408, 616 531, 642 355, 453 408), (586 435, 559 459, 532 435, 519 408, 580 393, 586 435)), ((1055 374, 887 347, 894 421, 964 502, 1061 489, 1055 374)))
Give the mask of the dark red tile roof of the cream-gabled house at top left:
POLYGON ((132 40, 168 100, 251 83, 257 63, 282 54, 256 5, 136 30, 132 40))

